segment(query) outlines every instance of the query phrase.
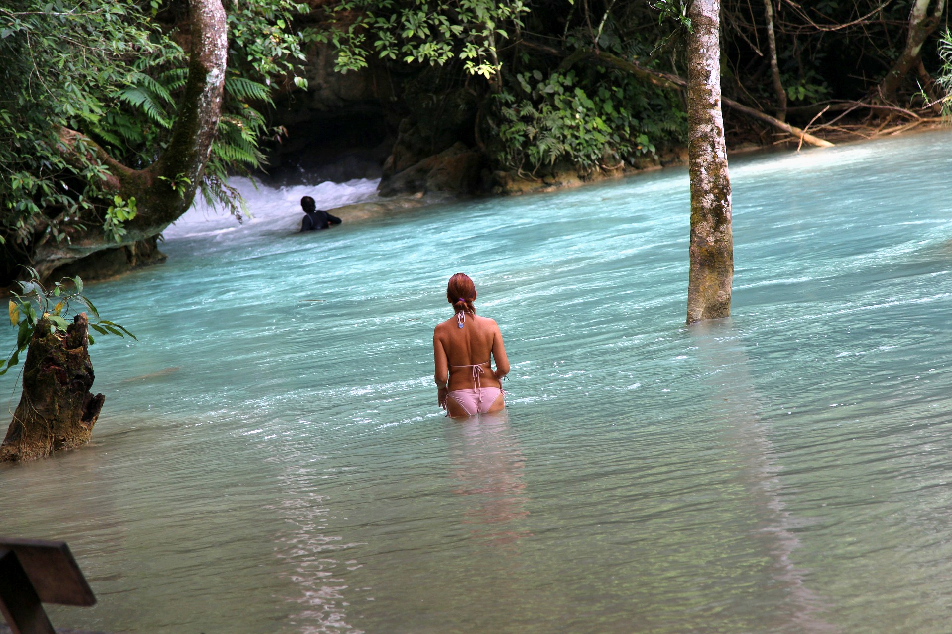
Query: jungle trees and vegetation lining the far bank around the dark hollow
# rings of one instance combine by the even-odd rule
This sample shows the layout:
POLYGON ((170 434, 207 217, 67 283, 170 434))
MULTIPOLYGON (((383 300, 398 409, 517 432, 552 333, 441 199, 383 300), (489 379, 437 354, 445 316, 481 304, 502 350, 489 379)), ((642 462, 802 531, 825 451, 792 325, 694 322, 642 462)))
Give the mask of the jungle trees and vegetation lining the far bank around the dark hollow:
MULTIPOLYGON (((465 90, 492 169, 536 178, 557 164, 640 164, 687 141, 690 9, 3 0, 0 283, 154 240, 197 192, 240 217, 227 176, 267 168, 264 150, 283 134, 272 100, 307 90, 317 48, 339 72, 399 67, 465 90)), ((944 0, 724 0, 720 15, 729 144, 810 143, 804 128, 869 137, 941 115, 952 82, 944 0)))

